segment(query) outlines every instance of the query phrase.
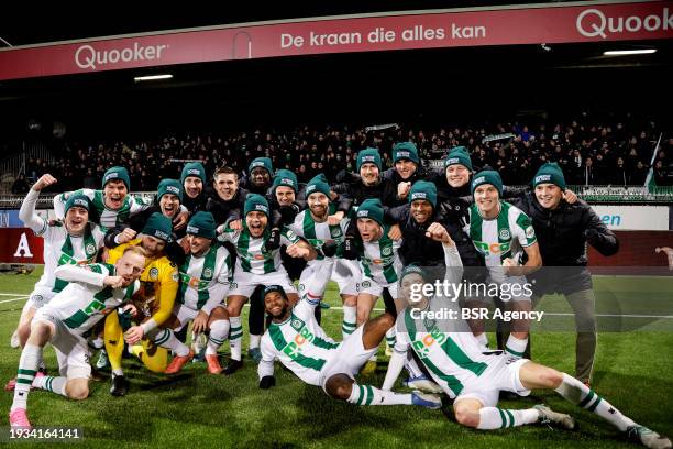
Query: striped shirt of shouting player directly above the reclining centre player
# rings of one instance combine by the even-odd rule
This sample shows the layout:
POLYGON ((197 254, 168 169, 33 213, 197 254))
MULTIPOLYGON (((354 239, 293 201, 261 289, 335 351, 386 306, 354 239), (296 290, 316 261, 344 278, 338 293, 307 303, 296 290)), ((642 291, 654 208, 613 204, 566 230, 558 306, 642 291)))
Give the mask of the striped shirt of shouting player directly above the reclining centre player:
MULTIPOLYGON (((221 242, 231 242, 236 248, 236 271, 252 274, 267 274, 278 271, 282 266, 280 250, 266 251, 264 244, 268 240, 268 233, 262 237, 252 237, 247 228, 234 231, 227 228, 218 237, 221 242)), ((299 238, 287 228, 280 230, 280 245, 297 243, 299 238)))

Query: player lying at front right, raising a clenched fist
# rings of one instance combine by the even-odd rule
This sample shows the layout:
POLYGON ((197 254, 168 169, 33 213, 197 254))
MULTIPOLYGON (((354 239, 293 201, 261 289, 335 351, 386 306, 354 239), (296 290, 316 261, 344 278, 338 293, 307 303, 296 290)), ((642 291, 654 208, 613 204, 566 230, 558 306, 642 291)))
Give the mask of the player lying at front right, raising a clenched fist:
MULTIPOLYGON (((428 237, 442 241, 449 283, 460 283, 462 263, 455 244, 444 228, 433 223, 428 237)), ((543 405, 527 409, 497 407, 498 393, 508 391, 528 395, 533 388, 553 390, 569 402, 595 413, 649 448, 670 448, 671 441, 640 426, 610 405, 593 390, 569 374, 530 360, 497 351, 482 353, 477 339, 467 324, 457 318, 437 320, 432 314, 446 309, 460 310, 455 298, 422 294, 420 285, 431 282, 426 271, 408 266, 400 276, 400 297, 409 305, 397 318, 397 342, 383 385, 390 391, 409 350, 422 361, 444 393, 453 402, 456 420, 467 427, 492 430, 552 421, 565 428, 575 427, 574 419, 543 405), (420 284, 420 285, 419 285, 420 284)))

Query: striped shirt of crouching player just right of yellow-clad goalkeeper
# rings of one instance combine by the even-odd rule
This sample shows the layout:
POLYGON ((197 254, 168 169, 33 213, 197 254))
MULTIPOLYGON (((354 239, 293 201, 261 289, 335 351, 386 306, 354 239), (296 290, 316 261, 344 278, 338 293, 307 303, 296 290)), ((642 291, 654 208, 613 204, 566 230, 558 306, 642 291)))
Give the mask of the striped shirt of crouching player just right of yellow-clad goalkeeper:
POLYGON ((189 254, 179 270, 178 302, 192 310, 203 310, 210 315, 227 296, 233 275, 231 254, 227 248, 216 242, 200 258, 189 254))

